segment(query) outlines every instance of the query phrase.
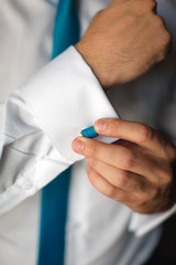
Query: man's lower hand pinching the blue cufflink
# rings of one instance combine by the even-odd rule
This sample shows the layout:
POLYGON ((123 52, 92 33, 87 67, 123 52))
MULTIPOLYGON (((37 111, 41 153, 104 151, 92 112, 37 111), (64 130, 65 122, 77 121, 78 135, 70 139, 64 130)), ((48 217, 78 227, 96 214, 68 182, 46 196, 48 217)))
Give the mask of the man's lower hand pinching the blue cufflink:
POLYGON ((99 119, 95 129, 120 138, 112 145, 84 137, 73 142, 101 193, 139 213, 162 212, 176 202, 176 147, 168 139, 146 125, 121 119, 99 119))

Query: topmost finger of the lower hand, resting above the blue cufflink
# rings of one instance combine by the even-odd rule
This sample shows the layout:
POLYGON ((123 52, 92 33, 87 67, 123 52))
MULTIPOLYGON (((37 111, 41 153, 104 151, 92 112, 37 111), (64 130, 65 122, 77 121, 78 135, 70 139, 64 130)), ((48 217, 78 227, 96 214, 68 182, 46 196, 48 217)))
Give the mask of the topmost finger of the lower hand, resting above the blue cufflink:
POLYGON ((163 150, 163 140, 158 132, 141 123, 106 118, 97 120, 95 129, 99 135, 132 141, 156 153, 163 150))

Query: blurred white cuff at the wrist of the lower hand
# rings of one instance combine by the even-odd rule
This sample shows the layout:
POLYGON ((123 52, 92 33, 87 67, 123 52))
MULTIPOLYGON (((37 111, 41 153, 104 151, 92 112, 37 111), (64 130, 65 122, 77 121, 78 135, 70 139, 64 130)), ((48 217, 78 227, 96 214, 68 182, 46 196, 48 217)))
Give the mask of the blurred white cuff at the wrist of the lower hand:
POLYGON ((150 231, 162 224, 175 212, 176 204, 174 204, 174 206, 168 211, 162 213, 153 214, 133 213, 131 222, 129 224, 129 231, 134 232, 136 236, 143 236, 144 234, 148 233, 150 231))

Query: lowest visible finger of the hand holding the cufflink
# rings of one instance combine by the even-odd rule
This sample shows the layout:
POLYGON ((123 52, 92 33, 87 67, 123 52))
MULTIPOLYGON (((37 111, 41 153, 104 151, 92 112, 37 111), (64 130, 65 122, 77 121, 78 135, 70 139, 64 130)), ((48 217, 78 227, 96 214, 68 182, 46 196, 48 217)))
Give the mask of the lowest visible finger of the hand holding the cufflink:
POLYGON ((96 172, 89 165, 87 166, 87 173, 91 184, 106 197, 109 197, 124 204, 132 200, 131 195, 128 197, 124 191, 109 183, 102 176, 96 172))

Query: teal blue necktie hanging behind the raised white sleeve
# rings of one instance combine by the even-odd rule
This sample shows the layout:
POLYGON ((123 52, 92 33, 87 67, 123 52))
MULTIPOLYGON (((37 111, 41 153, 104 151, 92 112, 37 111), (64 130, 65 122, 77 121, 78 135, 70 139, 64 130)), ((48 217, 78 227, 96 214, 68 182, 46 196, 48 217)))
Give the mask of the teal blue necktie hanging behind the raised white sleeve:
MULTIPOLYGON (((53 56, 56 57, 79 39, 76 0, 59 0, 57 6, 53 56)), ((38 265, 63 265, 65 224, 70 168, 61 173, 42 191, 38 265)))

